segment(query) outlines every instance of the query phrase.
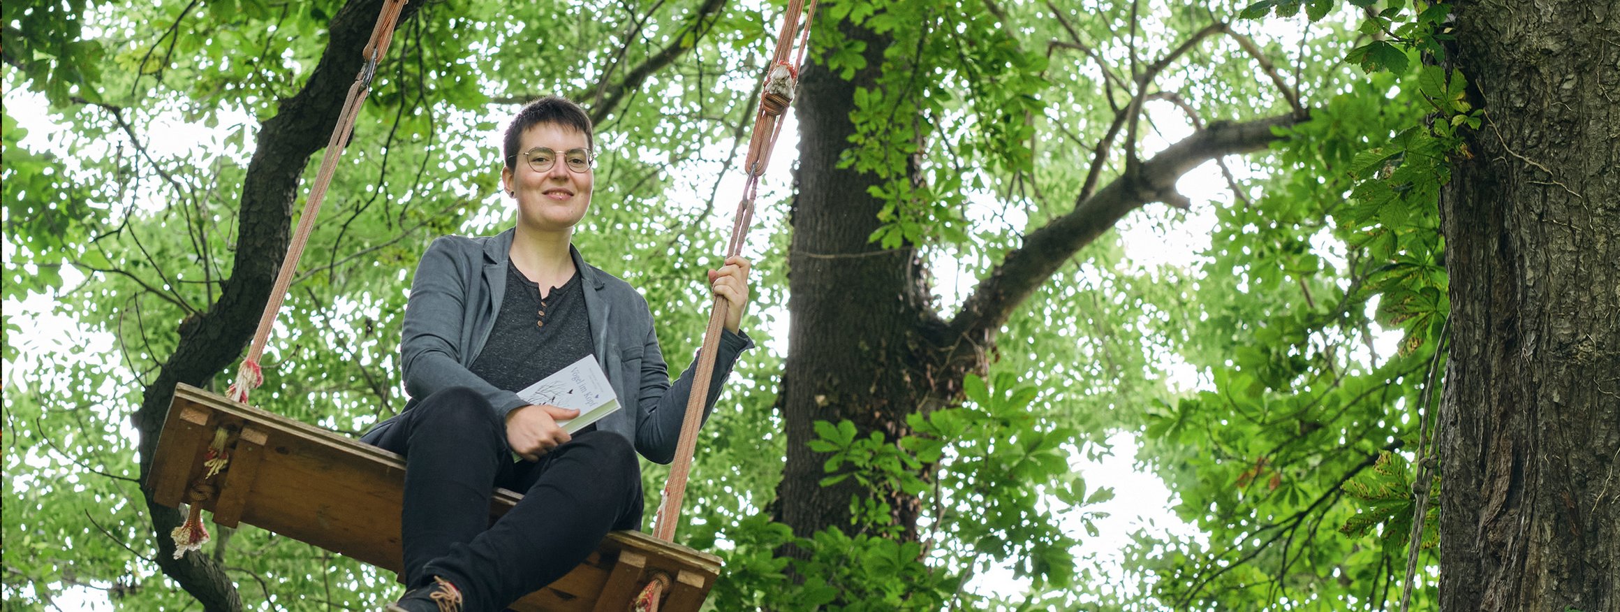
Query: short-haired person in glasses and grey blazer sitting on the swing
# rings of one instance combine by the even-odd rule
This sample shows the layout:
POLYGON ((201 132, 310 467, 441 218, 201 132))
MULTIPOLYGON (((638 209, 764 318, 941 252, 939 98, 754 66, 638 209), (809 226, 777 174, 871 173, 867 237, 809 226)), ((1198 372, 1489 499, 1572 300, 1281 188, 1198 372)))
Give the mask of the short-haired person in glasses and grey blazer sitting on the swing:
MULTIPOLYGON (((416 267, 400 358, 405 411, 364 442, 405 455, 402 541, 410 591, 389 610, 499 610, 561 578, 611 529, 642 526, 640 452, 669 463, 695 368, 669 384, 653 317, 629 283, 580 259, 591 201, 585 112, 536 100, 507 126, 501 185, 517 223, 444 236, 416 267), (577 411, 515 393, 593 355, 620 408, 569 436, 577 411), (520 460, 514 460, 517 455, 520 460), (494 487, 523 500, 489 525, 494 487)), ((710 270, 729 304, 705 416, 744 350, 748 261, 710 270)))

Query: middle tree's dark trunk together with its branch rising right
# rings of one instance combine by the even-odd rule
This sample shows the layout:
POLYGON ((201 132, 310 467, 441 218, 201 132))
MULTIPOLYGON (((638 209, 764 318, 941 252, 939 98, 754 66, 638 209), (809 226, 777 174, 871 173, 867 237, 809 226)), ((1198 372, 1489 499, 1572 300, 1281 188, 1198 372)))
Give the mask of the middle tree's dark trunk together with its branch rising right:
POLYGON ((1212 159, 1264 149, 1273 126, 1304 117, 1246 123, 1217 121, 1144 160, 1074 202, 1074 210, 1030 232, 1024 244, 974 290, 962 311, 946 317, 930 303, 928 270, 907 244, 883 251, 867 236, 878 228, 883 201, 867 193, 873 176, 839 168, 855 126, 849 120, 857 86, 875 87, 886 36, 842 23, 844 36, 867 44, 867 68, 846 81, 821 65, 805 70, 799 118, 799 194, 792 204, 789 261, 789 343, 778 406, 787 432, 787 465, 778 486, 776 520, 799 536, 826 528, 850 531, 850 499, 881 497, 893 525, 915 538, 917 500, 893 491, 862 491, 854 479, 820 486, 826 457, 810 452, 815 421, 850 419, 859 436, 907 432, 906 416, 961 400, 969 372, 982 372, 996 332, 1013 311, 1069 257, 1128 212, 1150 202, 1184 201, 1174 183, 1212 159))

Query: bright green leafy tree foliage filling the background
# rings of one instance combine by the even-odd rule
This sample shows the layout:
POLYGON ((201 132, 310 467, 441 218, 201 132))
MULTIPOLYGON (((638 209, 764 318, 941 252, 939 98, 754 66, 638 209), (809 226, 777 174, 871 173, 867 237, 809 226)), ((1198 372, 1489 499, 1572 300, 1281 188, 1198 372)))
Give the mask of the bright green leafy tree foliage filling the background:
MULTIPOLYGON (((5 5, 6 609, 49 609, 75 586, 126 609, 194 607, 151 560, 128 416, 181 325, 232 275, 259 121, 308 79, 339 8, 5 5), (50 125, 19 121, 18 105, 44 105, 50 125), (23 300, 49 301, 70 340, 31 340, 40 324, 23 300)), ((1234 21, 1244 6, 1226 3, 821 8, 813 57, 834 71, 865 60, 831 24, 894 36, 888 81, 849 100, 860 131, 846 162, 891 178, 893 206, 872 240, 917 248, 941 308, 1072 207, 1094 168, 1126 172, 1110 128, 1134 92, 1147 113, 1128 146, 1142 157, 1189 130, 1290 110, 1257 68, 1267 63, 1311 121, 1265 154, 1226 160, 1230 188, 1191 201, 1197 212, 1150 206, 1126 220, 1132 236, 1170 236, 1212 219, 1196 266, 1144 264, 1131 257, 1142 244, 1110 233, 1021 304, 959 406, 919 418, 899 444, 838 423, 818 429, 816 450, 838 458, 829 478, 917 489, 922 541, 860 512, 849 529, 800 538, 771 521, 782 466, 770 458, 784 455, 773 403, 792 350, 771 335, 791 316, 781 262, 792 228, 786 206, 763 207, 750 334, 770 350, 744 361, 703 431, 682 529, 688 546, 727 559, 711 604, 1383 607, 1405 568, 1408 461, 1448 309, 1432 206, 1445 142, 1411 130, 1443 96, 1418 52, 1383 34, 1418 18, 1380 3, 1395 8, 1379 13, 1390 28, 1358 31, 1377 23, 1361 3, 1317 2, 1309 16, 1264 28, 1234 21), (1212 23, 1244 37, 1205 32, 1212 23), (1184 55, 1155 63, 1189 39, 1184 55), (1369 45, 1388 71, 1367 76, 1341 60, 1369 45), (1098 147, 1105 139, 1115 144, 1098 147), (922 181, 907 173, 912 154, 922 181), (1398 348, 1380 350, 1390 334, 1398 348), (1132 492, 1087 487, 1074 458, 1128 452, 1106 445, 1121 431, 1137 434, 1137 466, 1174 492, 1168 510, 1200 533, 1144 526, 1111 567, 1074 550, 1097 538, 1098 505, 1132 492), (917 458, 936 463, 927 481, 917 458), (781 555, 789 541, 807 559, 781 555), (974 576, 991 568, 1011 568, 1029 593, 980 594, 974 576)), ((394 350, 407 270, 436 235, 504 227, 484 134, 541 92, 604 113, 598 193, 577 244, 646 293, 680 364, 701 329, 700 270, 735 198, 726 183, 779 6, 705 15, 667 2, 423 5, 379 68, 254 400, 348 434, 402 405, 394 350), (616 87, 671 47, 677 62, 616 87)), ((791 157, 778 154, 778 165, 791 157)), ((305 164, 303 185, 314 167, 305 164)), ((787 176, 770 185, 761 202, 792 198, 787 176)), ((646 470, 648 491, 659 482, 663 471, 646 470)), ((207 552, 254 609, 363 609, 395 591, 389 575, 253 528, 225 531, 207 552)), ((1432 606, 1429 588, 1416 597, 1432 606)))

